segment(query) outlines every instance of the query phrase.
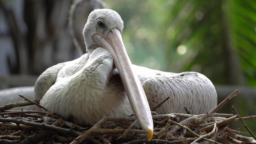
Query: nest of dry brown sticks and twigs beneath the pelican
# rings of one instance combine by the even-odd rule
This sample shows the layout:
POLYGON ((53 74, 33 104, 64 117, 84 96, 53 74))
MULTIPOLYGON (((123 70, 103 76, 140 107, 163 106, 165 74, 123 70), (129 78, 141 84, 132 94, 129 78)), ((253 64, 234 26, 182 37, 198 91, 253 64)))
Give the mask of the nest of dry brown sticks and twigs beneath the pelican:
MULTIPOLYGON (((235 143, 256 144, 256 137, 246 128, 253 137, 240 135, 243 132, 228 127, 233 121, 255 119, 256 116, 241 118, 236 115, 216 113, 239 91, 236 90, 216 108, 207 114, 156 114, 152 112, 154 120, 153 139, 148 142, 147 135, 140 129, 131 129, 137 122, 134 116, 128 118, 110 118, 108 114, 93 127, 82 127, 72 122, 62 120, 58 116, 39 111, 9 110, 14 107, 38 105, 39 100, 29 100, 12 103, 0 107, 0 144, 187 144, 187 143, 235 143), (45 118, 50 122, 44 122, 45 118), (179 118, 186 118, 179 121, 179 118), (238 117, 238 118, 236 118, 238 117), (130 121, 128 129, 116 127, 114 129, 102 128, 110 123, 130 121), (239 133, 239 134, 238 134, 239 133)), ((162 102, 163 103, 163 102, 162 102)), ((189 110, 187 110, 189 113, 189 110)), ((244 124, 245 127, 247 127, 244 124)))

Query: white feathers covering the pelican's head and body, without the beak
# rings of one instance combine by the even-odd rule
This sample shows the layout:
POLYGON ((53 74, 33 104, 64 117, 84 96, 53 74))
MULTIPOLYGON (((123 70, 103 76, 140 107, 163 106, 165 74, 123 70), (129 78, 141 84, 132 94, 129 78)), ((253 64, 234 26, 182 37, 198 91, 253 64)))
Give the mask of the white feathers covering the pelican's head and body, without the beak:
MULTIPOLYGON (((96 28, 98 19, 102 19, 109 29, 112 26, 122 32, 122 19, 119 17, 108 9, 90 14, 87 22, 91 28, 90 34, 84 30, 89 53, 50 67, 42 73, 35 85, 36 99, 42 98, 42 106, 66 119, 73 116, 78 124, 90 125, 98 122, 106 113, 112 117, 126 117, 133 113, 120 76, 114 69, 111 54, 104 48, 98 48, 92 39, 95 33, 102 32, 96 28)), ((187 107, 193 114, 202 114, 217 105, 213 84, 200 73, 161 72, 136 65, 133 65, 133 69, 151 108, 164 98, 171 97, 157 109, 158 113, 184 113, 183 107, 187 107)))

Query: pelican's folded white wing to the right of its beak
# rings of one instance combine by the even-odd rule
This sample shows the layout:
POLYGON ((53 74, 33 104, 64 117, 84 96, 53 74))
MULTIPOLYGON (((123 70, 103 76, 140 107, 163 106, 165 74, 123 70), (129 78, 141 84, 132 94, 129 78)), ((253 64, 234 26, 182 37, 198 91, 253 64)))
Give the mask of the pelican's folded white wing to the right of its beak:
POLYGON ((186 113, 186 107, 191 114, 202 114, 217 106, 215 87, 201 73, 159 73, 158 76, 147 79, 142 86, 150 108, 156 107, 170 96, 170 99, 156 110, 157 113, 186 113))

